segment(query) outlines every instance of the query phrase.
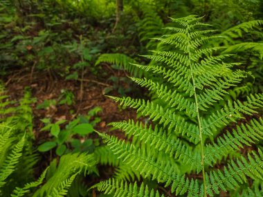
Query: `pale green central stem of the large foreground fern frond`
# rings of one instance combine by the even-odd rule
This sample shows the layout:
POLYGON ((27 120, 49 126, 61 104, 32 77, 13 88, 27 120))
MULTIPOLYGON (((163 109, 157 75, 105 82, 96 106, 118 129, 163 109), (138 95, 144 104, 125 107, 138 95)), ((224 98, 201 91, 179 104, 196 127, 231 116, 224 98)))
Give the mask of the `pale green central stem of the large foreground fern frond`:
MULTIPOLYGON (((188 35, 189 37, 189 35, 188 35)), ((200 115, 199 115, 199 103, 197 100, 197 92, 195 88, 195 82, 194 82, 194 74, 192 71, 192 64, 191 64, 191 53, 190 53, 190 44, 188 42, 188 56, 189 56, 189 65, 190 65, 190 71, 191 71, 191 79, 192 79, 192 86, 194 90, 194 100, 195 100, 195 105, 197 107, 197 120, 198 120, 198 127, 199 127, 199 138, 200 138, 200 147, 201 147, 201 166, 202 166, 202 176, 203 176, 203 194, 204 197, 207 197, 207 189, 206 189, 206 171, 204 167, 204 160, 205 160, 205 155, 204 155, 204 148, 203 148, 203 133, 202 133, 202 125, 201 125, 201 120, 200 120, 200 115)))

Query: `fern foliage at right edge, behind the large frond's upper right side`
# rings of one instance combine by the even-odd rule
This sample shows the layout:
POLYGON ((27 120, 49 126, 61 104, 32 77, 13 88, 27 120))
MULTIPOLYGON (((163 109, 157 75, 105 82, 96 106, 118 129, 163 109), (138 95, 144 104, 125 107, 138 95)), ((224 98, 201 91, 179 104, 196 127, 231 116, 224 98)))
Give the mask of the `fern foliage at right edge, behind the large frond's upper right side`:
POLYGON ((214 41, 211 44, 228 46, 221 54, 236 53, 234 59, 244 62, 244 68, 251 71, 254 78, 246 79, 243 86, 235 88, 231 95, 237 97, 247 95, 248 93, 262 93, 263 87, 261 81, 262 73, 262 20, 253 20, 244 22, 233 28, 229 28, 221 35, 226 36, 222 41, 214 41), (248 64, 249 63, 249 64, 248 64), (252 85, 253 84, 253 85, 252 85))

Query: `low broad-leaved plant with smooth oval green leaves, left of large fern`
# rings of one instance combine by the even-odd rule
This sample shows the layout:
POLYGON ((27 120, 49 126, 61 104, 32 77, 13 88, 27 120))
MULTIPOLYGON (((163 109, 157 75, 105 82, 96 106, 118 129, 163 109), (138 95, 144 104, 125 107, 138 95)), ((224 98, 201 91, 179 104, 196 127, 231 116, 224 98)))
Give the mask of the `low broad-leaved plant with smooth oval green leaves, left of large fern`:
POLYGON ((69 124, 65 126, 65 129, 61 129, 62 126, 60 126, 60 124, 64 124, 66 120, 58 120, 55 123, 51 123, 51 120, 49 119, 42 119, 42 122, 46 125, 41 131, 50 131, 53 138, 51 141, 46 141, 39 145, 37 148, 38 151, 46 152, 57 147, 55 150, 57 156, 62 156, 64 153, 71 152, 71 148, 73 148, 74 153, 82 151, 92 153, 95 148, 93 140, 85 138, 90 133, 93 133, 93 126, 96 126, 96 124, 100 122, 100 118, 96 117, 96 115, 101 110, 100 107, 91 109, 88 115, 81 115, 75 120, 69 122, 69 124), (76 135, 79 135, 78 138, 76 138, 76 135), (73 138, 73 136, 75 137, 73 138), (84 142, 82 142, 82 140, 84 142))

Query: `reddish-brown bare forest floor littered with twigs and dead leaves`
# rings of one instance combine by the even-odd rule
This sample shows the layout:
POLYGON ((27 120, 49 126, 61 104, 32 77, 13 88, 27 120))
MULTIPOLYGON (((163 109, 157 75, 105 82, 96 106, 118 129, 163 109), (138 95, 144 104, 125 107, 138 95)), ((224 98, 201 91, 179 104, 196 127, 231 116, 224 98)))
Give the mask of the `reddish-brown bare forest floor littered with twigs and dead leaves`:
MULTIPOLYGON (((125 73, 119 73, 118 75, 125 75, 125 73)), ((87 115, 89 110, 96 106, 100 106, 102 111, 98 113, 98 117, 101 121, 95 126, 96 131, 100 132, 109 132, 110 127, 107 126, 107 124, 110 122, 136 119, 135 110, 123 110, 118 103, 105 95, 105 87, 113 85, 112 82, 107 80, 107 77, 98 79, 95 75, 90 73, 85 75, 84 78, 87 79, 87 81, 83 84, 82 100, 78 99, 80 94, 80 82, 65 80, 64 77, 57 75, 51 77, 48 73, 41 71, 35 71, 32 75, 31 71, 20 69, 13 71, 11 75, 8 75, 6 79, 4 79, 6 90, 8 91, 8 95, 10 95, 10 100, 21 99, 24 95, 25 87, 30 87, 31 96, 37 99, 37 101, 32 104, 33 133, 35 134, 34 144, 36 146, 39 146, 39 144, 51 138, 49 132, 40 131, 42 127, 44 127, 44 123, 41 121, 44 118, 51 118, 51 122, 56 122, 57 120, 71 121, 78 115, 87 115), (73 104, 55 104, 47 109, 37 108, 44 100, 57 100, 63 89, 71 91, 71 93, 75 95, 73 104)), ((109 95, 120 96, 118 91, 111 92, 109 95)), ((132 97, 133 95, 130 96, 132 97)), ((124 138, 121 132, 111 132, 114 132, 114 135, 118 135, 119 138, 124 138)), ((48 160, 52 159, 48 154, 49 153, 44 153, 43 155, 44 158, 49 158, 46 160, 46 164, 42 164, 44 166, 48 165, 48 160)))

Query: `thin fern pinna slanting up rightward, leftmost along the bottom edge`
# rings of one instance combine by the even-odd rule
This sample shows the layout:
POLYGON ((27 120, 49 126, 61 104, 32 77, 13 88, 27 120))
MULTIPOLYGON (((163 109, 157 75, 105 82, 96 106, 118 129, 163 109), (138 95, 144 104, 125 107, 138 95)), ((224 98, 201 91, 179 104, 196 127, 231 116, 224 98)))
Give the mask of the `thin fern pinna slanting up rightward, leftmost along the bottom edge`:
POLYGON ((21 197, 21 196, 24 196, 24 194, 26 194, 28 191, 30 191, 29 189, 30 188, 33 188, 33 187, 37 187, 39 186, 40 184, 42 184, 44 178, 46 177, 46 171, 48 171, 48 168, 46 168, 41 176, 39 177, 38 180, 36 180, 35 182, 30 182, 30 183, 27 183, 23 188, 19 188, 19 187, 16 187, 15 190, 12 192, 11 196, 12 197, 21 197))

